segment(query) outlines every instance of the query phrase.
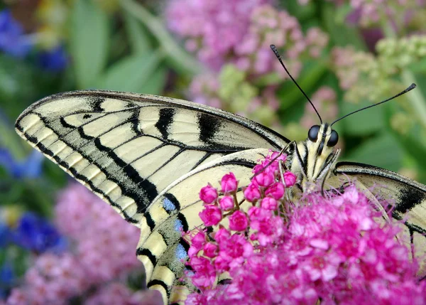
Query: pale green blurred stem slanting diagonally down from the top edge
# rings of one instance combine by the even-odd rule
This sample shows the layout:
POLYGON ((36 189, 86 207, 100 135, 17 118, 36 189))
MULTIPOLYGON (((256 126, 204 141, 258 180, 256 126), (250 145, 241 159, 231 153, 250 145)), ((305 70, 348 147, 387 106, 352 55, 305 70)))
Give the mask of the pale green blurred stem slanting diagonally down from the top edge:
POLYGON ((120 3, 124 10, 141 21, 153 33, 153 36, 158 39, 158 43, 165 50, 165 53, 168 54, 173 62, 178 64, 180 69, 192 75, 199 74, 202 70, 205 70, 200 62, 192 58, 191 55, 175 43, 170 33, 163 26, 160 18, 153 16, 147 9, 133 0, 120 0, 120 3))

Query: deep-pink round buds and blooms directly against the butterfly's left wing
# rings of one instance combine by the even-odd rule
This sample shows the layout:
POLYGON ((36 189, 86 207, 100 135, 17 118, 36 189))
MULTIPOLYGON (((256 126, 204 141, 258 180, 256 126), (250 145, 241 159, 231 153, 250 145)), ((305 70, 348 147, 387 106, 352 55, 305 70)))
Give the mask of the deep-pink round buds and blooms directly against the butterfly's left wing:
POLYGON ((210 184, 201 189, 204 210, 200 218, 206 227, 218 225, 218 230, 212 238, 203 230, 185 233, 190 241, 188 264, 194 271, 190 279, 195 287, 212 289, 220 274, 240 266, 259 247, 267 247, 283 235, 283 219, 275 212, 279 208, 278 200, 285 194, 285 186, 295 183, 293 173, 280 171, 279 163, 284 161, 285 155, 273 153, 253 169, 256 178, 244 189, 244 198, 252 203, 247 212, 239 208, 238 181, 234 173, 222 177, 224 195, 220 198, 217 188, 210 184), (285 184, 279 182, 282 178, 285 184), (228 228, 223 225, 225 219, 228 228))

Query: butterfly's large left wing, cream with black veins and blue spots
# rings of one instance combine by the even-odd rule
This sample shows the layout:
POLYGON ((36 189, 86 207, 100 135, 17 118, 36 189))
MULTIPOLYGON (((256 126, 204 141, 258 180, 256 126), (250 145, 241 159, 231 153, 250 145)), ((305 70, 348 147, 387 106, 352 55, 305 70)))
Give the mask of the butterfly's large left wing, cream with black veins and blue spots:
POLYGON ((261 158, 256 149, 266 154, 289 142, 205 105, 97 90, 36 102, 18 117, 16 131, 141 228, 138 257, 150 286, 165 296, 182 272, 176 229, 200 225, 201 186, 229 171, 246 179, 244 186, 261 158))

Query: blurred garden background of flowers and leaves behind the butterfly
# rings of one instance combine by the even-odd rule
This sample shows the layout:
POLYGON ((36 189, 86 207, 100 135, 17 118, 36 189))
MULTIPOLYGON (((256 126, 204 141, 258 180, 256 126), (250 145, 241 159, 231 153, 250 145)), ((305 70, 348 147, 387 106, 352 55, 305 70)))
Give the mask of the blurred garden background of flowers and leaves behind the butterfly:
POLYGON ((2 1, 0 304, 152 304, 138 230, 14 132, 33 102, 80 89, 165 95, 305 139, 318 119, 273 43, 328 122, 415 82, 334 128, 341 159, 426 183, 425 20, 424 0, 2 1))

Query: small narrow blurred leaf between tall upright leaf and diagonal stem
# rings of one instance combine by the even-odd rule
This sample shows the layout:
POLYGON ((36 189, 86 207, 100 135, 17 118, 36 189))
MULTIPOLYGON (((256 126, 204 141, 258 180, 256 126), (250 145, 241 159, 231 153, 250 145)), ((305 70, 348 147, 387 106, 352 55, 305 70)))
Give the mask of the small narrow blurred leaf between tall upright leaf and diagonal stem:
POLYGON ((126 23, 126 31, 129 36, 129 43, 133 54, 146 54, 152 50, 149 41, 148 31, 142 26, 138 20, 129 13, 124 13, 124 22, 126 23))

